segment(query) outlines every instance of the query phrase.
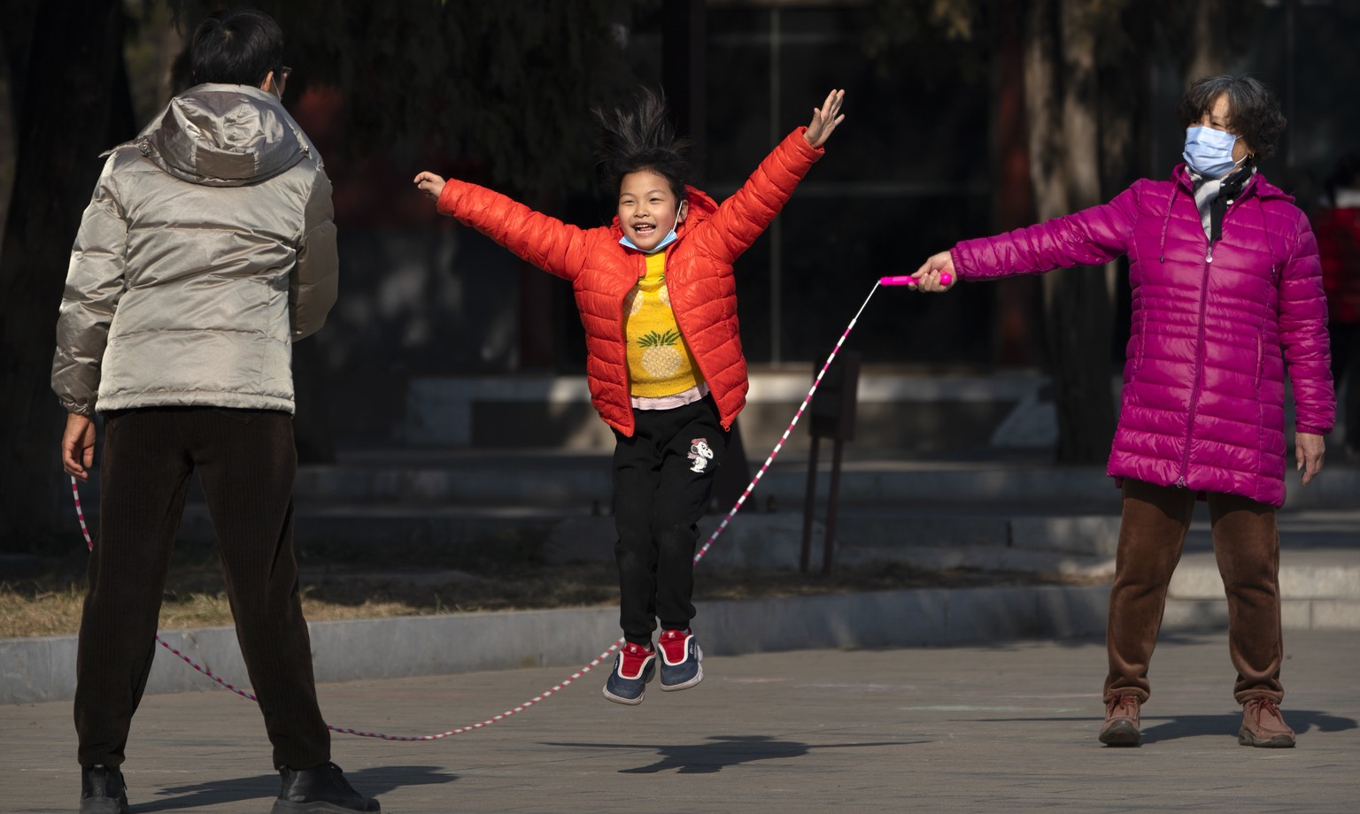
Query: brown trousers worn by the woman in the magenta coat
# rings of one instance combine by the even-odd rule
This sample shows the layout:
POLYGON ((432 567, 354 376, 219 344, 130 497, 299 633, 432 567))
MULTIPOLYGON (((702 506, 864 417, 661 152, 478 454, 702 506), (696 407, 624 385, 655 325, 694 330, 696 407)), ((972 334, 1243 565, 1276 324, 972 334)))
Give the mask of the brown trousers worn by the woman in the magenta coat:
MULTIPOLYGON (((1228 655, 1238 669, 1239 703, 1284 696, 1280 662, 1280 533, 1274 508, 1236 495, 1210 493, 1213 552, 1228 595, 1228 655)), ((1151 694, 1148 663, 1161 629, 1171 572, 1180 561, 1195 492, 1126 480, 1106 648, 1104 700, 1151 694)))

